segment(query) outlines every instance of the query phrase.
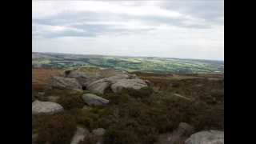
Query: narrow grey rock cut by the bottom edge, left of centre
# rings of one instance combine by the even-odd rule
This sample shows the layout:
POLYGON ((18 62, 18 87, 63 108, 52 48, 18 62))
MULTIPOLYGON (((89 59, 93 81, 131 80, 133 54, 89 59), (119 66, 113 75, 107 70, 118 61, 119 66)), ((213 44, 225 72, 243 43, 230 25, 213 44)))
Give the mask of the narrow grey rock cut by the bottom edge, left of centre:
POLYGON ((70 142, 70 144, 78 144, 79 142, 83 141, 83 138, 86 137, 86 135, 90 134, 89 130, 82 128, 82 127, 77 127, 77 130, 70 142))

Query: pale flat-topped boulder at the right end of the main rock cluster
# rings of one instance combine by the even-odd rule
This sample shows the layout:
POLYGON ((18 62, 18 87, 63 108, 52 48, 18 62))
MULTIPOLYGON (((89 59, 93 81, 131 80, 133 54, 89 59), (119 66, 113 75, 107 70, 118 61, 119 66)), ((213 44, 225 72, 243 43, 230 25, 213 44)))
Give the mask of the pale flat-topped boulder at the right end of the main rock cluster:
POLYGON ((145 86, 147 86, 146 82, 139 78, 120 79, 118 80, 118 82, 115 82, 111 86, 111 90, 113 90, 114 93, 118 93, 123 88, 131 88, 131 89, 139 90, 145 86))

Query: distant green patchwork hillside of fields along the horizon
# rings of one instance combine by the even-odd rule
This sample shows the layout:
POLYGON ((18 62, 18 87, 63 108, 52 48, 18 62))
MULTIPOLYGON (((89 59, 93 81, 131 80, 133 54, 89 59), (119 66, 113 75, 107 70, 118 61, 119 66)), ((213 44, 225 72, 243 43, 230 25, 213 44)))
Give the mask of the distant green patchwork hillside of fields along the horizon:
POLYGON ((129 72, 223 74, 224 62, 199 59, 121 57, 86 54, 32 53, 33 68, 102 67, 129 72))

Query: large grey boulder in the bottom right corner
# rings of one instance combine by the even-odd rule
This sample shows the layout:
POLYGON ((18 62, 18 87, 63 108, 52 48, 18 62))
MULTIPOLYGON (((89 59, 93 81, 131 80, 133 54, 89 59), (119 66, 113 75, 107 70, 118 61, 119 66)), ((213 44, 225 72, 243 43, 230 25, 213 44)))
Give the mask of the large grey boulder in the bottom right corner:
POLYGON ((224 144, 224 132, 219 130, 200 131, 186 139, 185 144, 224 144))

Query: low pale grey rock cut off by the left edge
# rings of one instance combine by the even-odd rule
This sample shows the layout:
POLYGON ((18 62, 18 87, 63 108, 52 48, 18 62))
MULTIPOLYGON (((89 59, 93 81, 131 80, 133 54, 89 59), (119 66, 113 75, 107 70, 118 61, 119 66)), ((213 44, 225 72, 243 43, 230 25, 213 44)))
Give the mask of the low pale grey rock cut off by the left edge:
POLYGON ((63 107, 55 102, 32 102, 32 114, 54 114, 63 110, 63 107))

